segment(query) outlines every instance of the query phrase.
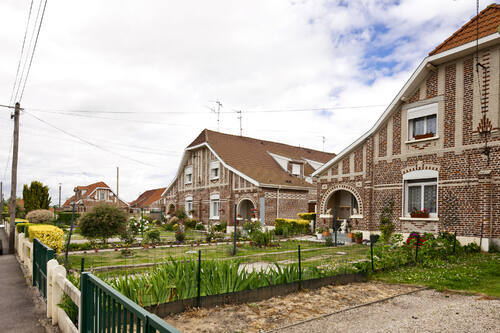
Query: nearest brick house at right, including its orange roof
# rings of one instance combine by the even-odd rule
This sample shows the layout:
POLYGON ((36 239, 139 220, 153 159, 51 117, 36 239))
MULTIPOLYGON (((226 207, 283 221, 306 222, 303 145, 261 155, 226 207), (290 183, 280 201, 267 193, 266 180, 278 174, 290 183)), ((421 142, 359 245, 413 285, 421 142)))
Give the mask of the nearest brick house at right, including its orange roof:
POLYGON ((500 243, 500 5, 479 14, 479 76, 476 20, 430 52, 375 125, 313 173, 320 223, 346 219, 368 238, 392 200, 398 232, 500 243), (429 216, 415 217, 424 208, 429 216))

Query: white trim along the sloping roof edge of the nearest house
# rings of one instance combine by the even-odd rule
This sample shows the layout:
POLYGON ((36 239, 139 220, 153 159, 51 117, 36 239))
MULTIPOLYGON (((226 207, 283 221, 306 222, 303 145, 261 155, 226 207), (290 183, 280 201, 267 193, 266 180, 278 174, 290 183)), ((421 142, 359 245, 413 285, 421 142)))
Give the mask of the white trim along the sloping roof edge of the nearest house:
MULTIPOLYGON (((499 39, 500 34, 498 32, 495 32, 491 35, 488 35, 486 37, 480 38, 478 41, 479 45, 484 45, 484 44, 489 44, 489 43, 494 43, 497 39, 499 39)), ((382 115, 378 118, 378 120, 375 122, 375 124, 363 135, 361 135, 356 141, 351 143, 349 146, 347 146, 345 149, 343 149, 337 156, 332 158, 330 161, 326 162, 321 168, 318 170, 314 171, 312 174, 313 177, 318 176, 319 174, 323 173, 325 170, 328 170, 330 166, 333 164, 337 163, 341 159, 343 159, 347 154, 349 154, 354 148, 362 144, 366 139, 368 139, 372 134, 374 134, 378 128, 385 122, 386 118, 399 106, 401 103, 401 98, 405 96, 407 92, 412 91, 413 89, 416 89, 418 86, 418 83, 420 83, 420 80, 423 79, 427 73, 430 71, 427 68, 427 64, 430 64, 431 62, 435 62, 437 64, 444 63, 450 59, 453 56, 461 56, 461 53, 465 53, 469 51, 469 49, 473 49, 476 46, 476 41, 474 42, 469 42, 467 44, 455 47, 453 49, 440 52, 438 54, 435 54, 433 56, 428 56, 422 60, 420 65, 417 67, 417 69, 413 72, 413 74, 410 76, 410 79, 406 81, 404 84, 403 88, 398 92, 396 97, 392 100, 391 104, 387 107, 387 109, 382 113, 382 115)))

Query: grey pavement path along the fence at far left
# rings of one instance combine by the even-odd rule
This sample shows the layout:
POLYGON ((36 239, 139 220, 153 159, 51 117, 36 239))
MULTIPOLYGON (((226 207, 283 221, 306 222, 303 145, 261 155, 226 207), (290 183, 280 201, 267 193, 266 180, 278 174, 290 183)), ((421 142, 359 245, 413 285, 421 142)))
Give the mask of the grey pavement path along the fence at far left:
MULTIPOLYGON (((7 243, 3 228, 2 242, 7 243)), ((4 248, 4 253, 6 252, 4 248)), ((44 308, 28 287, 24 274, 12 254, 0 256, 0 331, 23 333, 47 332, 44 308)), ((50 331, 50 330, 49 330, 50 331)))

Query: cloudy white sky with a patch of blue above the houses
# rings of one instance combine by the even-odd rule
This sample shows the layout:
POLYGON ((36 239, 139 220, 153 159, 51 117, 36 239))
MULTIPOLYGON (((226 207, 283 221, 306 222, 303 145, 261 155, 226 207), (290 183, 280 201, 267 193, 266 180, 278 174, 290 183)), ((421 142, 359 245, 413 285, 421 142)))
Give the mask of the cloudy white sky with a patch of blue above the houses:
MULTIPOLYGON (((30 1, 0 2, 0 104, 12 104, 30 1)), ((475 11, 473 0, 48 0, 21 99, 18 196, 32 180, 53 204, 59 184, 62 202, 78 185, 115 190, 119 167, 132 201, 172 182, 204 128, 239 134, 239 110, 245 136, 338 153, 475 11)), ((10 113, 0 107, 6 198, 10 113)))

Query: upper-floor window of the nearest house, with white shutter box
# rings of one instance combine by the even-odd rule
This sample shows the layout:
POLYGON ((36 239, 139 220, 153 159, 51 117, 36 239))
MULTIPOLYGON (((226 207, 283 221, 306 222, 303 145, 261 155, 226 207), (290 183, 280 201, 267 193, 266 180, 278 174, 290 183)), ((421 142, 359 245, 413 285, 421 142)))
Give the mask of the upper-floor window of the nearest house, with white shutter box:
POLYGON ((408 140, 437 136, 437 103, 408 109, 408 140))

